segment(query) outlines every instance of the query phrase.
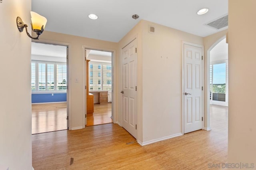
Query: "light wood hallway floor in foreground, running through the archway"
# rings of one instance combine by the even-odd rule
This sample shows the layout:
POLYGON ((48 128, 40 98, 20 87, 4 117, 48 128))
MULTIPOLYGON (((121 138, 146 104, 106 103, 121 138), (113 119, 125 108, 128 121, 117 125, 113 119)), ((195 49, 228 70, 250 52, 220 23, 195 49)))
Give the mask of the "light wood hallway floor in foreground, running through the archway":
POLYGON ((227 108, 211 106, 211 131, 140 146, 116 124, 32 135, 35 170, 194 170, 227 161, 227 108), (74 159, 70 165, 71 158, 74 159))

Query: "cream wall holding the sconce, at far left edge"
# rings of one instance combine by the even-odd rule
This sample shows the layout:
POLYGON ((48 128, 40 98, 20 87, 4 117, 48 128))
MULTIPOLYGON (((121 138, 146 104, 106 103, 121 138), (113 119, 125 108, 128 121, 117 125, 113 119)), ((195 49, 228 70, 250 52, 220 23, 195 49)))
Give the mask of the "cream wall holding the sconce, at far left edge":
POLYGON ((32 169, 31 39, 16 25, 17 16, 30 25, 30 10, 31 0, 0 3, 0 165, 10 170, 32 169))

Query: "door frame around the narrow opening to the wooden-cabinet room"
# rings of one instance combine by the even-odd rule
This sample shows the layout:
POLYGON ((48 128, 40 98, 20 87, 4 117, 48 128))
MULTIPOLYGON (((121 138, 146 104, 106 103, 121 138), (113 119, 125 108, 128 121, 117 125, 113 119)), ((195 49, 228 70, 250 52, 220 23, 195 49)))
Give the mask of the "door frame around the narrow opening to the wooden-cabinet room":
MULTIPOLYGON (((113 123, 116 123, 116 111, 117 111, 117 103, 116 103, 116 89, 117 89, 117 83, 116 83, 116 50, 110 49, 110 48, 102 48, 98 46, 91 46, 91 45, 82 45, 82 87, 86 86, 86 49, 92 49, 92 50, 98 50, 98 51, 107 51, 112 52, 112 120, 113 123)), ((88 88, 88 87, 86 87, 88 88)), ((82 95, 82 113, 85 115, 86 113, 86 89, 83 88, 82 93, 85 95, 82 95)), ((85 116, 82 117, 82 125, 83 128, 85 128, 85 116)))

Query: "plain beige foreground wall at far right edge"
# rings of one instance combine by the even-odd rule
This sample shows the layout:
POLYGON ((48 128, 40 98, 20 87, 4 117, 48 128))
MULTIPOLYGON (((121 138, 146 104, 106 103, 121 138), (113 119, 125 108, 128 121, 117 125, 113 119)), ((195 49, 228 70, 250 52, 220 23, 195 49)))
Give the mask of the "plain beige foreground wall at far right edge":
POLYGON ((228 2, 228 162, 256 167, 256 1, 228 2))

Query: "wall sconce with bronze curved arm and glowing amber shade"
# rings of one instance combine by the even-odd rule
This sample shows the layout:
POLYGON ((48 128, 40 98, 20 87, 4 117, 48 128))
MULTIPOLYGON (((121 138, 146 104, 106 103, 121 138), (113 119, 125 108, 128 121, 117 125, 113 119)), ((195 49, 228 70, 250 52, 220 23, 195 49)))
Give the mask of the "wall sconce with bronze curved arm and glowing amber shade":
POLYGON ((36 12, 31 11, 30 14, 31 14, 32 31, 36 32, 37 37, 33 38, 32 36, 30 36, 30 34, 28 33, 28 28, 27 28, 28 25, 24 24, 24 22, 22 21, 22 19, 20 17, 17 17, 17 19, 16 19, 17 27, 20 32, 23 32, 23 29, 26 28, 27 35, 34 40, 38 40, 38 37, 44 32, 44 27, 46 25, 47 19, 43 16, 40 16, 36 12))

